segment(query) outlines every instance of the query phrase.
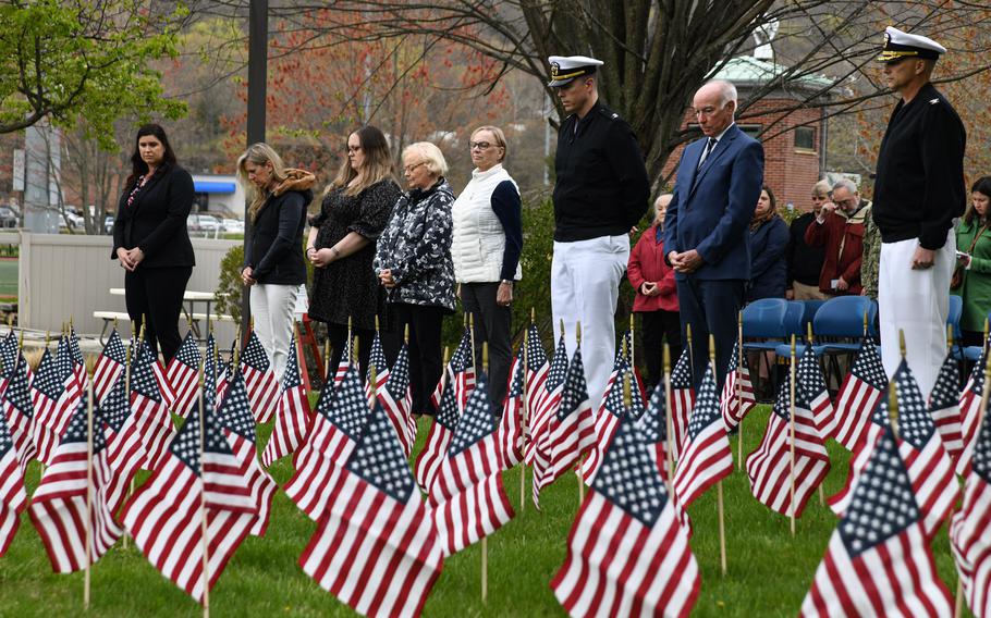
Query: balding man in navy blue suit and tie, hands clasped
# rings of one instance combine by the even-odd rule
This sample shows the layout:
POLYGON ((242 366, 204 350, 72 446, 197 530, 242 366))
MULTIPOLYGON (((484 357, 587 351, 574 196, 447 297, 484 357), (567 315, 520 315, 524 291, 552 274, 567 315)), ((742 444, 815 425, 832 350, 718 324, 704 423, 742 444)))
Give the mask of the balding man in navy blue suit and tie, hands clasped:
POLYGON ((750 279, 748 224, 763 183, 763 147, 733 121, 733 84, 709 82, 692 104, 705 137, 682 153, 668 206, 664 248, 675 271, 683 334, 692 324, 695 387, 709 362, 711 333, 722 388, 750 279))

